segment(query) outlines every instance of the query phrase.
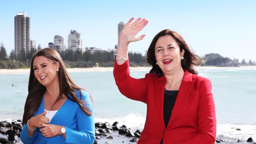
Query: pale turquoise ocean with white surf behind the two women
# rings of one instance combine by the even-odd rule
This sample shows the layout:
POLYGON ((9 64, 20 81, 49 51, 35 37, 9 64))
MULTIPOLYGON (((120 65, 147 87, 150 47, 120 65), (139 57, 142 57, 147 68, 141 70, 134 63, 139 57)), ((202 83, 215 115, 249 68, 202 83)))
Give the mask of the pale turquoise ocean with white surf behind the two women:
MULTIPOLYGON (((199 76, 209 78, 217 117, 217 137, 223 139, 256 139, 256 67, 204 68, 199 76), (234 128, 240 128, 236 131, 234 128)), ((144 78, 149 70, 132 70, 134 78, 144 78)), ((71 72, 77 85, 92 94, 95 122, 115 121, 132 129, 143 129, 147 107, 145 103, 123 96, 112 71, 71 72)), ((0 121, 22 119, 28 94, 29 74, 0 74, 0 121), (17 87, 12 87, 12 84, 17 87)))

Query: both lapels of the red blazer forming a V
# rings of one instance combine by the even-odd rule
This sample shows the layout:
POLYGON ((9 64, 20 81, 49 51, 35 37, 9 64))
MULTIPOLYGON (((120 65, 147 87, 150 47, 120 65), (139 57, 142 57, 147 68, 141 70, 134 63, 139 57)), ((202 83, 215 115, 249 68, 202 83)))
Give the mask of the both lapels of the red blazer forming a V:
MULTIPOLYGON (((186 101, 187 96, 189 95, 189 92, 195 83, 195 80, 192 79, 192 76, 193 75, 189 71, 185 70, 184 76, 182 78, 182 82, 181 82, 181 85, 179 88, 179 92, 178 92, 178 95, 176 98, 176 102, 174 104, 171 118, 169 120, 169 124, 168 124, 167 128, 169 127, 171 122, 173 122, 174 118, 180 111, 180 108, 186 101)), ((157 81, 158 82, 156 83, 155 90, 154 90, 155 100, 156 100, 156 105, 158 107, 158 111, 161 116, 162 126, 165 127, 164 119, 163 119, 163 97, 164 97, 164 90, 165 90, 165 85, 166 85, 166 78, 163 75, 160 78, 158 78, 157 81)))

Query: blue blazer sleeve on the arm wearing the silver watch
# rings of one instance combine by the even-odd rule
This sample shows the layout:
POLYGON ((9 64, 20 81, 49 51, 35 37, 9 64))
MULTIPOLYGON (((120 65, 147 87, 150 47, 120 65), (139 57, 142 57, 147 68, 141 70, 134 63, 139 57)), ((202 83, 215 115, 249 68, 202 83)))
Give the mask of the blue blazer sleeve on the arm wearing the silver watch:
POLYGON ((93 144, 95 140, 95 124, 94 124, 94 112, 91 102, 91 96, 88 92, 81 90, 82 100, 86 102, 86 105, 91 109, 91 116, 85 114, 80 107, 76 111, 76 117, 78 122, 78 131, 66 127, 66 140, 65 144, 93 144))

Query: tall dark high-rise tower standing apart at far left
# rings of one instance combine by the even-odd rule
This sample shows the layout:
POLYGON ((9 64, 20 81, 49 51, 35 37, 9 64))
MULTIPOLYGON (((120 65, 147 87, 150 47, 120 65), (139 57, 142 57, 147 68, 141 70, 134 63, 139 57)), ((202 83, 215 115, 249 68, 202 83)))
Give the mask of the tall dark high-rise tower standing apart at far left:
POLYGON ((30 17, 26 17, 26 13, 18 13, 14 17, 14 22, 15 55, 19 55, 22 48, 28 53, 30 52, 30 17))

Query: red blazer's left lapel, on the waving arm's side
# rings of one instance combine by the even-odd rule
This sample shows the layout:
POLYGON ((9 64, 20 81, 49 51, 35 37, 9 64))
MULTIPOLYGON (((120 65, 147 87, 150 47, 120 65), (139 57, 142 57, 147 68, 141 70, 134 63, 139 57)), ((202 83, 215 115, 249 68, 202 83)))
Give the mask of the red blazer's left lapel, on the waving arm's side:
POLYGON ((161 126, 165 127, 165 122, 163 120, 163 96, 165 91, 166 78, 161 76, 157 79, 154 86, 154 95, 156 100, 156 106, 161 118, 161 126))

